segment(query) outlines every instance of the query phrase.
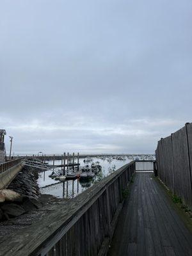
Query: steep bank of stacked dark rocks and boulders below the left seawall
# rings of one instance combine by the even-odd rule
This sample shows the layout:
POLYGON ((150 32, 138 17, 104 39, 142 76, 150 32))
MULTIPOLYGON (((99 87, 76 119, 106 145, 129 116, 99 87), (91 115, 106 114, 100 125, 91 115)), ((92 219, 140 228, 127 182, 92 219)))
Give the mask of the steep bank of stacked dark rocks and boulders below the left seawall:
POLYGON ((8 188, 0 191, 0 221, 10 220, 40 207, 37 179, 37 170, 24 166, 8 188))

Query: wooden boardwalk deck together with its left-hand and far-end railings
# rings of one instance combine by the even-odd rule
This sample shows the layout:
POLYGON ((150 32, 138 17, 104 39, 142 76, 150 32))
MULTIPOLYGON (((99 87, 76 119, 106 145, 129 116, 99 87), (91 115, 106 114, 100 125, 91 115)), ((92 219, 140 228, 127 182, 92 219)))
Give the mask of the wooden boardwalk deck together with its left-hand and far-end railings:
POLYGON ((0 255, 191 255, 192 236, 152 166, 125 164, 1 241, 0 255))

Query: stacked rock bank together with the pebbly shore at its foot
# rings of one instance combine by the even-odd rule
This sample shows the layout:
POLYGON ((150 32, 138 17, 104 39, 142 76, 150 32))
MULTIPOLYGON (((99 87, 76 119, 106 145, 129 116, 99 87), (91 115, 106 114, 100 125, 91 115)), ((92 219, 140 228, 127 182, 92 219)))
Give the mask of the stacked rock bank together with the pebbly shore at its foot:
POLYGON ((6 193, 0 191, 0 238, 40 220, 52 205, 65 203, 52 195, 40 195, 37 179, 38 169, 24 166, 4 189, 6 193))

